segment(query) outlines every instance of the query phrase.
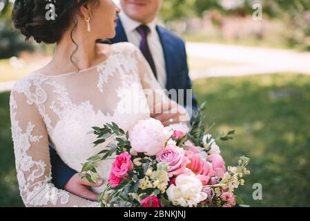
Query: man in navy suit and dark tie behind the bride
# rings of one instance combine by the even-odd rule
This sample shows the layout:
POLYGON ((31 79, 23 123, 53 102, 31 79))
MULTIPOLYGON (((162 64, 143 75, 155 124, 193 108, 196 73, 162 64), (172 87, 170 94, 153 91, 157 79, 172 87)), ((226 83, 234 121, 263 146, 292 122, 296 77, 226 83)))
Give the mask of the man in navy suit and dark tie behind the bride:
MULTIPOLYGON (((128 41, 139 47, 162 88, 184 90, 184 95, 181 95, 184 96, 183 105, 187 110, 197 110, 197 101, 192 93, 189 95, 191 104, 186 102, 186 89, 191 89, 191 79, 188 77, 184 41, 162 26, 157 26, 155 21, 162 0, 120 0, 120 3, 122 12, 119 13, 116 36, 110 39, 111 43, 128 41)), ((102 40, 97 42, 104 43, 102 40)), ((191 111, 189 112, 191 115, 191 111)), ((164 125, 173 122, 167 119, 167 115, 152 117, 159 119, 164 125)), ((80 180, 77 171, 64 164, 52 148, 50 159, 55 186, 81 198, 97 200, 98 195, 90 191, 89 186, 101 186, 102 180, 97 184, 80 180)))

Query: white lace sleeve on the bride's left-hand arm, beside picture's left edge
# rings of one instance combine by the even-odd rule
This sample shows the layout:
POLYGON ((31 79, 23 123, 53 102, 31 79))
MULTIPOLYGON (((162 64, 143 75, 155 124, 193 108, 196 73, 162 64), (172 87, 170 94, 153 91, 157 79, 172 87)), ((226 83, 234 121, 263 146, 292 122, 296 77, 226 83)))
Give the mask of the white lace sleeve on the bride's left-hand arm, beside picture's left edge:
POLYGON ((98 206, 51 182, 48 132, 33 97, 12 90, 10 115, 17 180, 26 206, 98 206), (32 98, 32 99, 31 99, 32 98))

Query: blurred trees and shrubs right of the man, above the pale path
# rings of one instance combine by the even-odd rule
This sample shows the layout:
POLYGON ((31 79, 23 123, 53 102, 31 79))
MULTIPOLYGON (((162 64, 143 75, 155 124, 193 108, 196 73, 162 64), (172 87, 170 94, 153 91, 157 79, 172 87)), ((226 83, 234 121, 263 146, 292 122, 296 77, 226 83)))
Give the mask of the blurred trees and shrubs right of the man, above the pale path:
MULTIPOLYGON (((238 38, 242 38, 243 42, 248 38, 249 41, 254 39, 252 44, 255 45, 264 42, 267 46, 310 50, 310 1, 308 0, 170 0, 164 1, 161 17, 164 23, 168 23, 169 28, 180 32, 190 40, 219 41, 222 39, 220 43, 238 43, 235 41, 238 38), (236 33, 237 37, 229 39, 221 30, 224 21, 227 21, 227 26, 229 21, 235 21, 236 18, 240 18, 240 23, 247 22, 246 17, 251 18, 255 11, 253 9, 255 3, 262 6, 263 19, 260 24, 252 23, 252 25, 260 30, 257 30, 258 28, 255 30, 253 27, 253 35, 240 36, 236 33), (219 28, 220 33, 212 38, 214 30, 210 26, 201 25, 191 30, 193 17, 204 19, 202 23, 211 20, 213 25, 219 28), (187 27, 177 25, 180 21, 186 23, 187 27)), ((231 23, 234 26, 234 22, 231 23)), ((244 27, 235 26, 234 31, 238 32, 240 28, 244 27)))

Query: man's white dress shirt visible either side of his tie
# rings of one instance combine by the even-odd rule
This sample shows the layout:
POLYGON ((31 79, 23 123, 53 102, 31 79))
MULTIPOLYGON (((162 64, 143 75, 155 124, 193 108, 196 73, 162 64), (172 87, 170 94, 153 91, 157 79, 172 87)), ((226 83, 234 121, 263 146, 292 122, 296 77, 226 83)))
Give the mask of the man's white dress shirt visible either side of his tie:
MULTIPOLYGON (((121 19, 122 21, 128 41, 139 48, 142 37, 135 29, 139 27, 142 23, 130 19, 130 17, 126 15, 124 10, 119 12, 119 19, 121 19)), ((157 80, 162 86, 162 88, 166 88, 166 63, 164 59, 162 44, 156 30, 156 21, 154 20, 150 23, 146 23, 146 26, 148 26, 148 28, 150 28, 151 30, 151 32, 148 34, 148 47, 151 50, 151 54, 155 63, 157 80)))

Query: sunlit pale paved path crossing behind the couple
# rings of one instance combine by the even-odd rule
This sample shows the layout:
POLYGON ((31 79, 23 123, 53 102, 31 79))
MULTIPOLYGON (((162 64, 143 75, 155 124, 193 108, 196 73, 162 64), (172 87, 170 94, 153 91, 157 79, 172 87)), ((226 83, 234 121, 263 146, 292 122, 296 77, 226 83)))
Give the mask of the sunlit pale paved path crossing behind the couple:
MULTIPOLYGON (((187 42, 186 50, 191 57, 234 64, 213 66, 208 70, 192 70, 192 79, 282 72, 310 75, 309 52, 194 42, 187 42)), ((0 92, 10 90, 13 85, 14 82, 0 83, 0 92)))

